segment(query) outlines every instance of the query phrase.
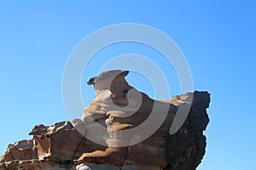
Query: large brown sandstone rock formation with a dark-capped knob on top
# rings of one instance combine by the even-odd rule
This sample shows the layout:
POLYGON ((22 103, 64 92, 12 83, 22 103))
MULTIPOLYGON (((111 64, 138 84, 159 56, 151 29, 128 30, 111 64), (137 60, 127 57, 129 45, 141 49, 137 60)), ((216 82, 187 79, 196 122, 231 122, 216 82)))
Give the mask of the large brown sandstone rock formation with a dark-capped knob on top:
POLYGON ((157 101, 131 87, 128 73, 107 71, 90 78, 96 97, 82 118, 35 126, 32 139, 9 144, 0 170, 195 169, 205 154, 210 94, 195 91, 157 101), (183 105, 189 105, 189 115, 170 134, 183 105))

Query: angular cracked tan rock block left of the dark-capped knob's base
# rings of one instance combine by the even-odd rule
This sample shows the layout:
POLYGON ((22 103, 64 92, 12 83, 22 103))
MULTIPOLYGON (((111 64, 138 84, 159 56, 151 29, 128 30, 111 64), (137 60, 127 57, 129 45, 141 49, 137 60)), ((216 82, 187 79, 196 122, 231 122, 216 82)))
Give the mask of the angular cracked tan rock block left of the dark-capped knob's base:
POLYGON ((84 152, 104 150, 104 146, 85 140, 71 122, 58 122, 51 126, 36 126, 30 133, 38 148, 38 159, 68 162, 84 152))

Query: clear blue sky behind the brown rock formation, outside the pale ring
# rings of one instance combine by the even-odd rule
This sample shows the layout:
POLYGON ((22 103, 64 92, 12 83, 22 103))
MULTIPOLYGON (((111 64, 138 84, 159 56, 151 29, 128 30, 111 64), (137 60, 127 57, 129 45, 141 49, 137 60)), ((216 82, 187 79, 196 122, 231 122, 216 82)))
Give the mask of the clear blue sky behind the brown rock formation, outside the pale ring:
MULTIPOLYGON (((205 133, 207 153, 198 169, 255 168, 256 3, 253 0, 88 2, 1 3, 1 154, 8 144, 30 139, 28 133, 34 125, 68 119, 62 104, 61 77, 76 44, 103 26, 131 22, 154 26, 172 37, 189 62, 195 90, 212 94, 207 110, 211 122, 205 133)), ((102 50, 102 56, 110 59, 117 54, 141 52, 154 60, 149 56, 154 52, 147 52, 145 47, 123 45, 102 50)), ((94 95, 93 88, 84 84, 102 65, 101 57, 97 59, 96 66, 84 71, 84 105, 94 95)), ((143 78, 131 74, 128 79, 133 86, 152 94, 143 78)), ((174 84, 173 94, 178 94, 176 79, 174 74, 173 82, 170 80, 174 84)))

